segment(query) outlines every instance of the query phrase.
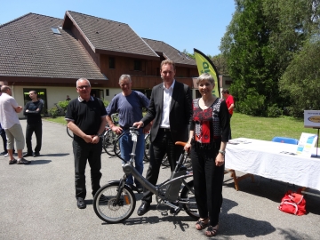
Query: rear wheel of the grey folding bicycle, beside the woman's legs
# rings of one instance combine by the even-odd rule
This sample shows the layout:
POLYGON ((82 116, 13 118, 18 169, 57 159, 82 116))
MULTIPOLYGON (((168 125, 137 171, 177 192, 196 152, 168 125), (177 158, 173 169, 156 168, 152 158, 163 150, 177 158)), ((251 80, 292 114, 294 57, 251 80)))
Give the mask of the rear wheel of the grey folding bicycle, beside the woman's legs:
POLYGON ((184 201, 194 202, 195 204, 183 204, 182 206, 191 218, 198 220, 200 218, 200 214, 196 205, 196 196, 195 196, 195 188, 194 188, 193 180, 190 180, 188 182, 188 187, 191 190, 186 186, 182 188, 180 198, 183 199, 184 201))

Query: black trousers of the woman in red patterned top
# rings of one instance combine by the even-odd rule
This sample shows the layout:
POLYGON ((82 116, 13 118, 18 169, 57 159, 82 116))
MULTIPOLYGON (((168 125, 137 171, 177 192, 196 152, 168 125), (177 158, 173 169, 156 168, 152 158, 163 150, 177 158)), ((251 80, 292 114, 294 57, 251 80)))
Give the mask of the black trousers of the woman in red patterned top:
MULTIPOLYGON (((218 146, 218 145, 217 145, 218 146)), ((219 144, 220 146, 220 144, 219 144)), ((209 212, 210 225, 219 223, 222 204, 222 184, 224 164, 215 165, 219 147, 212 149, 191 148, 191 160, 194 177, 196 204, 200 218, 207 218, 209 212)))

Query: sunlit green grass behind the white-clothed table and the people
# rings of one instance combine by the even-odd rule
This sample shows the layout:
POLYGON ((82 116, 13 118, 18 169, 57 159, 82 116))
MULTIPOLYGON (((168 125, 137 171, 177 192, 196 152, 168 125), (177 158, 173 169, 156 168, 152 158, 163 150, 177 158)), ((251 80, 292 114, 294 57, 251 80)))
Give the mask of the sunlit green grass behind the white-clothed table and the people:
MULTIPOLYGON (((64 116, 56 118, 46 117, 47 121, 67 124, 64 116)), ((273 137, 288 137, 299 140, 301 132, 316 134, 317 130, 305 128, 303 119, 291 116, 259 117, 234 113, 231 117, 232 138, 249 138, 256 140, 272 140, 273 137)))

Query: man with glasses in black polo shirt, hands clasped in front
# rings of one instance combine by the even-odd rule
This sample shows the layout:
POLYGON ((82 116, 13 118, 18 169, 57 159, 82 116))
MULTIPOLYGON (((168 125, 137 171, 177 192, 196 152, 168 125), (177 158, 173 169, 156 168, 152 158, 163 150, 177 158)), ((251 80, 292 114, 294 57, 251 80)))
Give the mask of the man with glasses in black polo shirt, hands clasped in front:
MULTIPOLYGON (((91 167, 92 196, 100 188, 101 179, 101 134, 106 126, 106 108, 102 100, 90 95, 91 84, 85 78, 76 81, 76 92, 79 97, 70 100, 66 114, 68 128, 75 134, 73 139, 73 152, 75 156, 76 173, 76 203, 77 207, 84 209, 86 196, 85 165, 87 161, 91 167)), ((100 202, 107 201, 105 196, 100 202)))

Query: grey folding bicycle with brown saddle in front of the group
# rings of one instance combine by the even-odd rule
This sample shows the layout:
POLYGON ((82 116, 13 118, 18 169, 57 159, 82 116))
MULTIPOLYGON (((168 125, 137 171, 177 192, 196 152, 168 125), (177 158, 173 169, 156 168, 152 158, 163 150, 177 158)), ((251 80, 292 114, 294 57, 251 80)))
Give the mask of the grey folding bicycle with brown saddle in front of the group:
MULTIPOLYGON (((180 210, 184 210, 190 217, 196 220, 199 219, 193 180, 186 181, 193 174, 192 172, 188 172, 183 166, 188 154, 185 151, 182 152, 168 180, 156 186, 152 185, 133 167, 139 132, 137 128, 131 127, 130 133, 133 141, 130 161, 127 162, 117 155, 125 163, 123 164, 124 177, 121 180, 109 181, 108 184, 97 191, 93 198, 93 209, 100 220, 108 223, 118 223, 128 219, 132 215, 136 205, 136 197, 133 194, 132 187, 125 183, 129 174, 132 174, 144 188, 147 188, 156 195, 157 206, 166 205, 171 207, 174 215, 178 214, 180 210), (182 191, 180 192, 181 188, 182 191), (107 197, 108 202, 100 202, 100 196, 107 197)), ((186 143, 178 141, 176 144, 184 146, 186 143)), ((140 193, 139 189, 136 190, 140 193)), ((159 211, 164 212, 162 210, 159 211)))

